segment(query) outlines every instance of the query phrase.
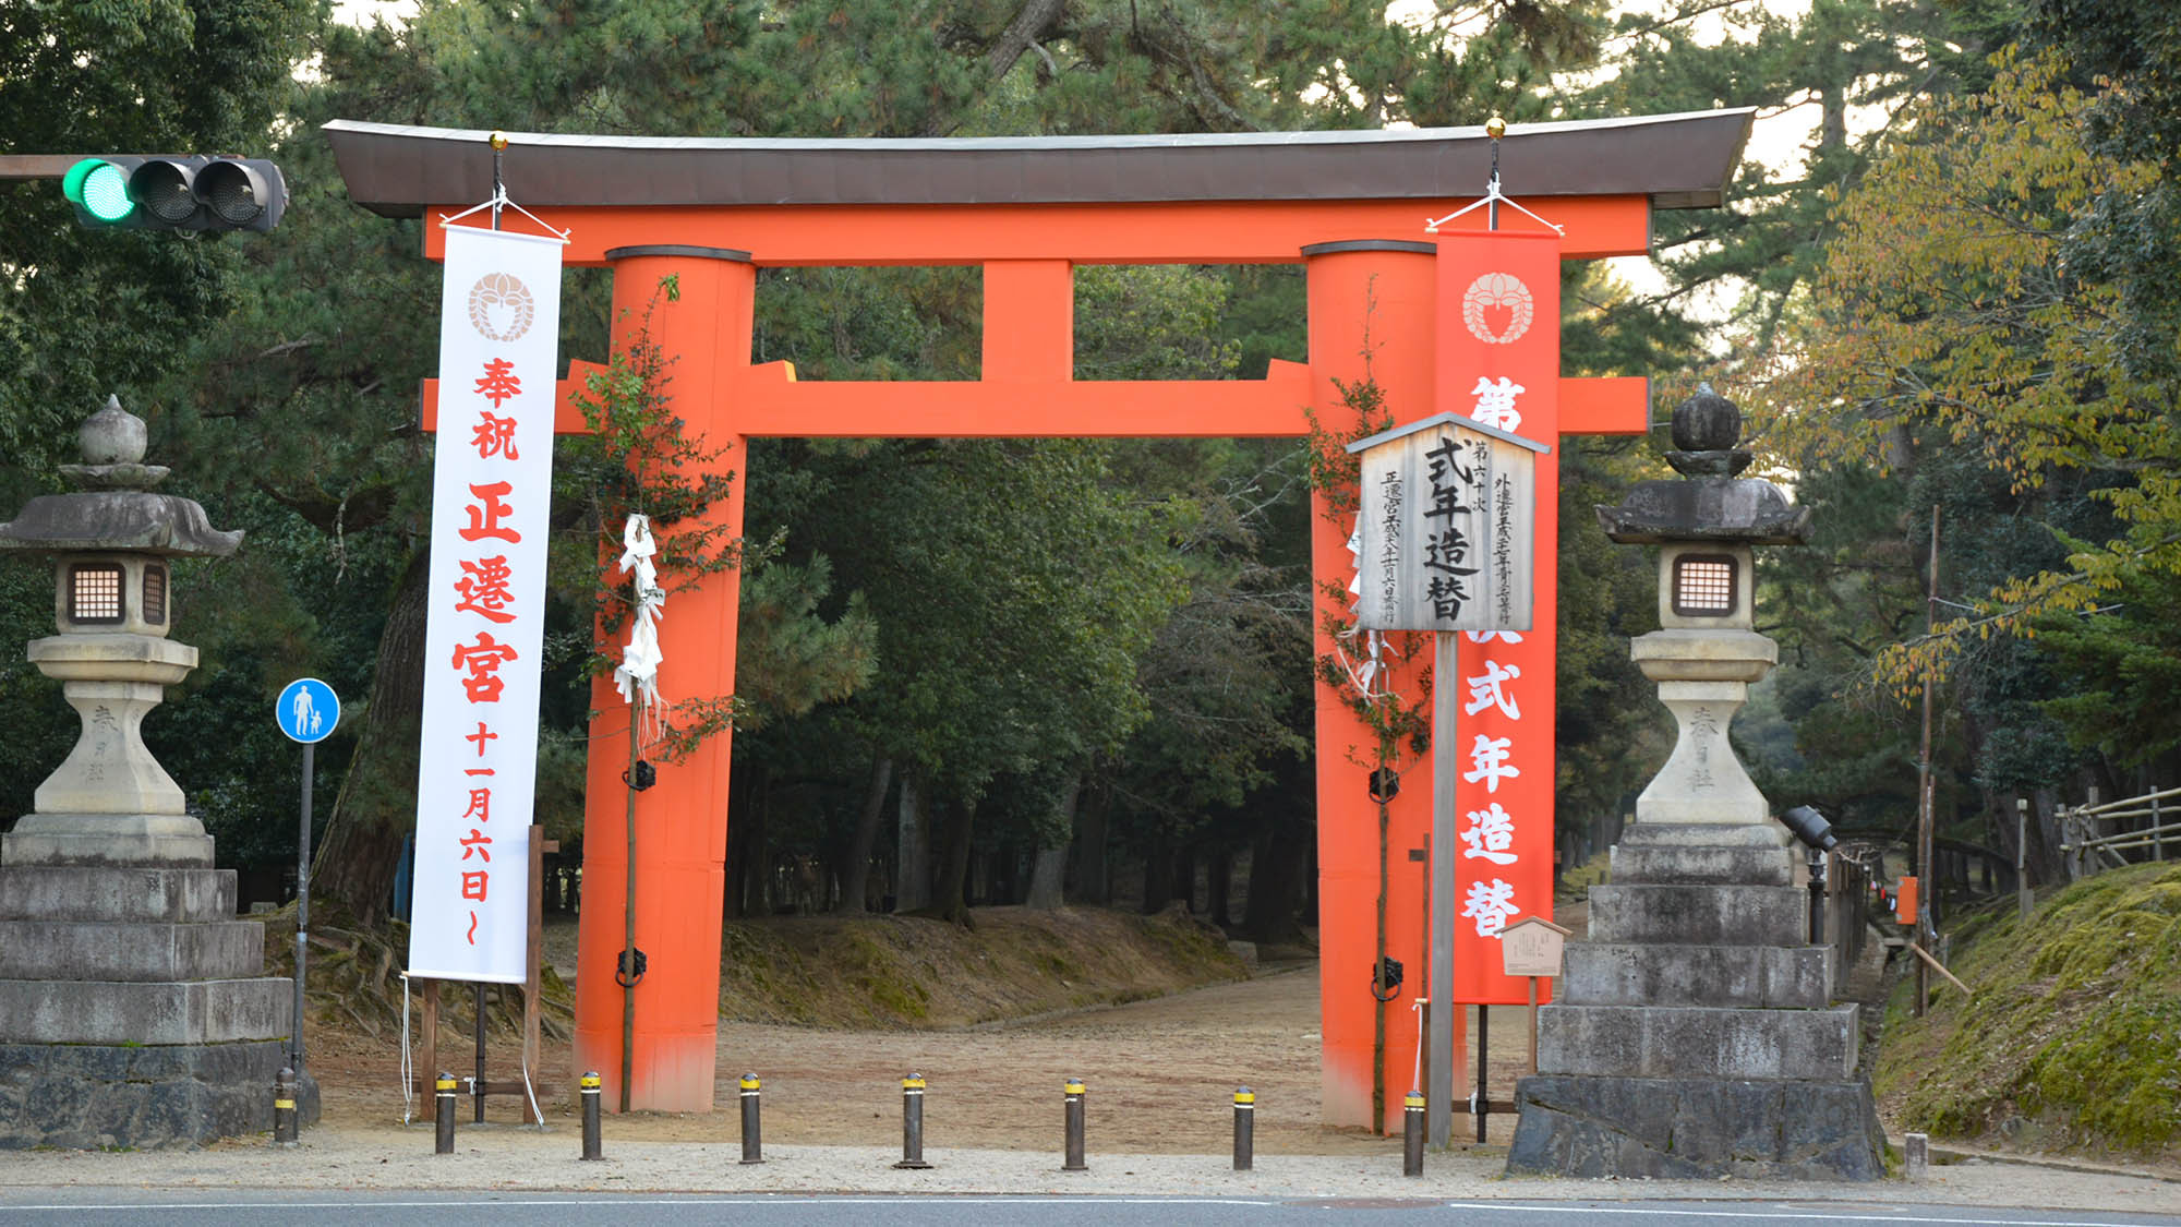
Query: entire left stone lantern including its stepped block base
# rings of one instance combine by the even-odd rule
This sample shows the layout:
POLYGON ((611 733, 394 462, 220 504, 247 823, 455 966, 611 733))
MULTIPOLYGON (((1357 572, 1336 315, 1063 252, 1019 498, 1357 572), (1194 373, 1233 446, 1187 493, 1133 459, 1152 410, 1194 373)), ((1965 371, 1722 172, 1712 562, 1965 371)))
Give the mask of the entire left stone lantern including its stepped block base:
MULTIPOLYGON (((264 926, 144 747, 144 716, 196 668, 166 638, 170 557, 231 555, 185 498, 150 493, 144 424, 109 402, 83 428, 81 493, 0 524, 0 550, 55 563, 57 635, 31 664, 83 720, 0 836, 0 1146, 190 1146, 273 1127, 290 982, 264 976, 264 926)), ((316 1085, 299 1094, 316 1120, 316 1085)))

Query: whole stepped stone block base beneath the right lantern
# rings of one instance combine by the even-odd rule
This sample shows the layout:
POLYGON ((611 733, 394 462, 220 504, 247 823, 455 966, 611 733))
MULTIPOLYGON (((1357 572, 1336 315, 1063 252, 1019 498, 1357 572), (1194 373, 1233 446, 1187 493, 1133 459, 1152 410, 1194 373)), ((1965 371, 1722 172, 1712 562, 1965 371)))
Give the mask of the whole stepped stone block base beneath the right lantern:
POLYGON ((1566 1177, 1884 1175, 1854 1004, 1810 945, 1795 854, 1754 825, 1638 823, 1538 1009, 1507 1170, 1566 1177))

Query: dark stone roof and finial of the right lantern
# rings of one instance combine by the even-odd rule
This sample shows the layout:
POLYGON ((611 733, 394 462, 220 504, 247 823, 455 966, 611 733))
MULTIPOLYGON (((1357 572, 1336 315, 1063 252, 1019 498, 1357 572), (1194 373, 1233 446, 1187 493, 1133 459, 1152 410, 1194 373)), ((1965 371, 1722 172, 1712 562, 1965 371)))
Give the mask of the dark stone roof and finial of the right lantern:
POLYGON ((1799 546, 1810 539, 1810 509, 1795 507, 1769 480, 1738 478, 1749 452, 1736 448, 1743 410, 1701 384, 1673 410, 1666 463, 1682 480, 1647 480, 1620 500, 1599 507, 1605 535, 1623 546, 1660 541, 1721 541, 1745 546, 1799 546))

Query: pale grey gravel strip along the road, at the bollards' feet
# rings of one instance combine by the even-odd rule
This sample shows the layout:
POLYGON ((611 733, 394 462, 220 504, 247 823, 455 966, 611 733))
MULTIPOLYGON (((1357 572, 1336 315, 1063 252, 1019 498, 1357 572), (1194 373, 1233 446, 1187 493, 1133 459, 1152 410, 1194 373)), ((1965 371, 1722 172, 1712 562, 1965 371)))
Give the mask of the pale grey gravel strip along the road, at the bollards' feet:
POLYGON ((2181 1214, 2181 1183, 2089 1170, 1969 1159, 1932 1168, 1921 1183, 1810 1186, 1786 1181, 1559 1181, 1503 1179, 1498 1148, 1431 1155, 1424 1177, 1400 1175, 1398 1144, 1367 1155, 1258 1151, 1254 1172, 1226 1155, 1088 1155, 1088 1172, 1062 1172, 1038 1151, 925 1151, 931 1170, 903 1172, 899 1148, 766 1146, 766 1164, 742 1166, 733 1142, 622 1142, 611 1122, 606 1157, 580 1162, 580 1133, 565 1122, 462 1124, 454 1155, 432 1153, 425 1124, 314 1129, 288 1151, 242 1140, 207 1151, 0 1153, 0 1188, 292 1188, 292 1190, 602 1190, 602 1192, 988 1192, 988 1194, 1195 1194, 1195 1196, 1448 1196, 1448 1199, 1762 1199, 1860 1205, 1993 1205, 2181 1214))

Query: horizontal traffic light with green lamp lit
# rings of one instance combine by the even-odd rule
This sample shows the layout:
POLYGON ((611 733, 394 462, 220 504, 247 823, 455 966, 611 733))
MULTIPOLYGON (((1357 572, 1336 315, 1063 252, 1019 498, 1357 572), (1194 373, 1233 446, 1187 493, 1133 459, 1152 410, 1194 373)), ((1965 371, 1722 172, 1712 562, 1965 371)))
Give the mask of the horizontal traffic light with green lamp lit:
POLYGON ((288 181, 264 157, 107 153, 61 177, 92 229, 273 229, 288 181))

